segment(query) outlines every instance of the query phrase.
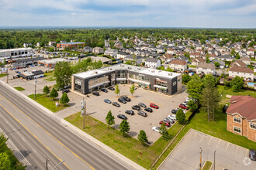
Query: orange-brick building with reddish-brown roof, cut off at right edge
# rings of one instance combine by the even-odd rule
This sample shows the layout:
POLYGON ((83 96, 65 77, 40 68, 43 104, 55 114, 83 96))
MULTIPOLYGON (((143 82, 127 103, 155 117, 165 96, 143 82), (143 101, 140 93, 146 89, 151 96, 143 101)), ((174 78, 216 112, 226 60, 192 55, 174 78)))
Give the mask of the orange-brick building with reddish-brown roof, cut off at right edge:
POLYGON ((227 109, 227 131, 256 142, 256 98, 232 96, 227 109))

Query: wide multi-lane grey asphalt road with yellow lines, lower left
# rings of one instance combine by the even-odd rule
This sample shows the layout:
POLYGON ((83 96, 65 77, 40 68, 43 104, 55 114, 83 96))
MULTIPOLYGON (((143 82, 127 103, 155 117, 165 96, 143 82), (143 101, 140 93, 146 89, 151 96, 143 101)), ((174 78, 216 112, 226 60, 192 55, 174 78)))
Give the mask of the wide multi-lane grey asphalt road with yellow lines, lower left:
POLYGON ((36 105, 0 84, 0 128, 29 162, 27 169, 132 169, 97 148, 36 105))

